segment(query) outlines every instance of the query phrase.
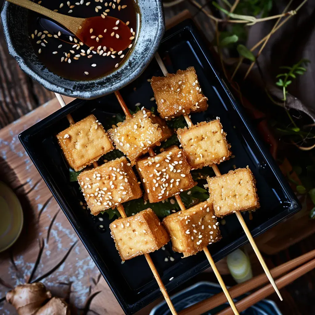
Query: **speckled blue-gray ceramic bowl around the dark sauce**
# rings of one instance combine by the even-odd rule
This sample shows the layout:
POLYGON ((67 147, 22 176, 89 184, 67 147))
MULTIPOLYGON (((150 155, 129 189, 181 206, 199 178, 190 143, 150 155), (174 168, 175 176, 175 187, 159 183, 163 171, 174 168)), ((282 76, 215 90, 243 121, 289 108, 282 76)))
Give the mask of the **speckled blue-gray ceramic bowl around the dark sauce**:
POLYGON ((116 71, 90 81, 72 81, 49 71, 37 58, 27 31, 27 9, 4 2, 1 20, 9 53, 20 68, 46 89, 62 95, 92 99, 109 94, 137 78, 152 59, 162 39, 164 14, 161 0, 138 0, 140 31, 131 54, 116 71))

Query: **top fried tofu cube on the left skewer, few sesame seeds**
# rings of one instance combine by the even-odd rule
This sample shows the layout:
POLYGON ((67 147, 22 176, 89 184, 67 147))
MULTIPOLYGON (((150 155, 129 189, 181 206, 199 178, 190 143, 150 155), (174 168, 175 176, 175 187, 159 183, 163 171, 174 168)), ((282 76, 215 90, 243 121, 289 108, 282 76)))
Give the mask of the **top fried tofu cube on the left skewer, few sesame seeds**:
POLYGON ((89 115, 57 135, 69 165, 80 171, 114 149, 102 124, 89 115))

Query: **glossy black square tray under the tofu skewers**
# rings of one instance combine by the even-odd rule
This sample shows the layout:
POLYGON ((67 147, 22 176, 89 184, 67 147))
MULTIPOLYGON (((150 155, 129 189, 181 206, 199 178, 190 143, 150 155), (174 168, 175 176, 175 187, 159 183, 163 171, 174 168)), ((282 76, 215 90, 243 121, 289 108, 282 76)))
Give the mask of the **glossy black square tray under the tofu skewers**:
MULTIPOLYGON (((261 208, 253 214, 253 220, 249 220, 248 213, 244 217, 253 236, 258 236, 298 211, 300 205, 268 149, 250 126, 243 108, 237 104, 213 68, 214 64, 207 51, 191 20, 167 31, 159 49, 161 57, 166 57, 169 72, 186 69, 188 66, 196 69, 203 93, 209 99, 209 108, 207 112, 193 114, 192 122, 197 123, 216 116, 221 118, 235 155, 235 158, 219 165, 221 173, 233 169, 234 164, 237 167, 249 165, 253 171, 261 208)), ((153 75, 163 75, 155 60, 152 60, 138 79, 120 90, 132 110, 135 110, 136 103, 141 103, 146 108, 155 105, 150 101, 153 91, 147 81, 153 75)), ((78 190, 78 184, 69 182, 68 166, 55 138, 58 132, 69 126, 66 119, 69 113, 75 121, 94 113, 103 125, 106 125, 113 113, 123 114, 113 94, 95 100, 77 99, 21 133, 19 139, 123 310, 126 314, 133 314, 157 299, 161 292, 143 256, 121 264, 110 237, 108 225, 112 220, 108 220, 108 215, 99 215, 104 220, 99 221, 98 217, 82 210, 79 203, 83 196, 78 190), (100 228, 100 224, 104 227, 100 228)), ((230 215, 225 220, 226 224, 220 225, 223 239, 209 246, 215 261, 247 242, 237 217, 230 215)), ((172 251, 170 243, 165 246, 165 250, 160 249, 151 256, 169 292, 209 266, 203 252, 182 259, 180 254, 172 251), (164 261, 165 257, 170 256, 175 260, 164 261), (173 280, 170 281, 170 278, 173 280)))

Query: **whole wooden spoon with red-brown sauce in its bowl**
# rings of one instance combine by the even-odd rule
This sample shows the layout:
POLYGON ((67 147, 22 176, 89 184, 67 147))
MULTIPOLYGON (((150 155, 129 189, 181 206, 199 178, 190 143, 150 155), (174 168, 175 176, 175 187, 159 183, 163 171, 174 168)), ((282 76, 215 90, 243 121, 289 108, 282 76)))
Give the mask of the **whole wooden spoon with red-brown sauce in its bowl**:
MULTIPOLYGON (((112 16, 93 16, 90 18, 75 18, 65 14, 60 14, 46 9, 41 5, 29 0, 7 0, 23 8, 30 9, 39 14, 43 14, 50 19, 65 26, 81 42, 92 49, 106 46, 113 50, 120 51, 126 49, 134 39, 129 27, 121 20, 112 16)), ((57 34, 54 34, 58 36, 57 34)), ((72 41, 70 39, 70 41, 72 41)), ((72 42, 73 43, 73 42, 72 42)))

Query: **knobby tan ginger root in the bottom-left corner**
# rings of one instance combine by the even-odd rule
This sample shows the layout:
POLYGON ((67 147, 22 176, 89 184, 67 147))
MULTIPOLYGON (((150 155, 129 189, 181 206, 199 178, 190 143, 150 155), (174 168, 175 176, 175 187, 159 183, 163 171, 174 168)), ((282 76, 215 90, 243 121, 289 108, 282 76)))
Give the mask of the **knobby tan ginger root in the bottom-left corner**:
POLYGON ((7 293, 6 299, 19 315, 70 315, 68 304, 63 299, 51 298, 41 282, 19 284, 7 293))

